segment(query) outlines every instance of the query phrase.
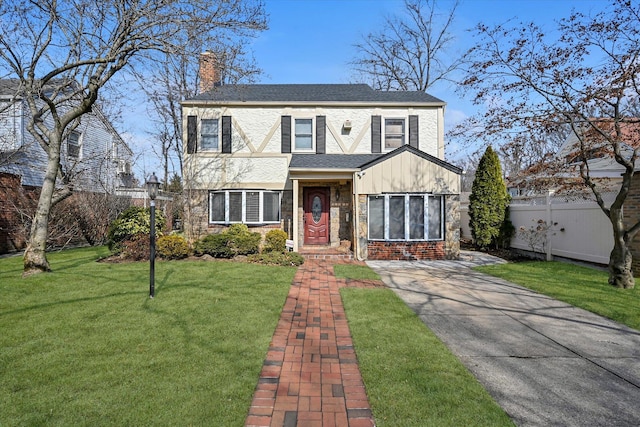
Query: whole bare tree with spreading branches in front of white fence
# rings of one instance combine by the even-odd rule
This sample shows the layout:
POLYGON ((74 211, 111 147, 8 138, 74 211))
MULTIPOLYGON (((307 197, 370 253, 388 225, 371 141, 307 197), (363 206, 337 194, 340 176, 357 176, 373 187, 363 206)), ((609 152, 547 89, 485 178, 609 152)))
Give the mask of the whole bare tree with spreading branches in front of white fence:
POLYGON ((494 143, 512 135, 538 134, 541 129, 570 128, 577 138, 576 177, 611 222, 609 283, 632 288, 629 244, 640 222, 625 224, 622 206, 640 147, 635 111, 640 95, 640 5, 612 0, 611 7, 593 15, 573 12, 558 22, 557 33, 535 24, 509 23, 492 28, 481 24, 476 33, 463 88, 485 110, 474 121, 481 126, 463 126, 472 129, 473 138, 494 143), (610 205, 590 171, 594 152, 611 156, 623 171, 610 205))

